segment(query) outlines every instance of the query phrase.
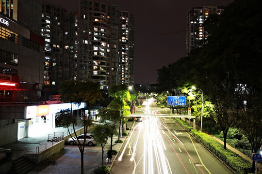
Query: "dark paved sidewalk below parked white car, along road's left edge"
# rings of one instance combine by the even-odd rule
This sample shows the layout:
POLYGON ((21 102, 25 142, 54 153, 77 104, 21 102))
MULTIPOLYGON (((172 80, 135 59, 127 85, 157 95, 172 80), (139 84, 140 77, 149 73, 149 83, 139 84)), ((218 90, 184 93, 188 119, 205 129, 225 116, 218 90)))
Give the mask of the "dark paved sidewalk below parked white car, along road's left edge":
MULTIPOLYGON (((131 128, 134 121, 128 121, 127 127, 131 128)), ((127 131, 128 133, 128 131, 127 131)), ((127 136, 120 137, 120 140, 125 141, 127 136)), ((113 149, 119 151, 123 143, 115 143, 118 140, 118 136, 113 137, 113 149)), ((117 155, 113 156, 112 163, 107 163, 107 151, 110 149, 110 139, 108 144, 104 147, 104 165, 112 167, 117 155)), ((84 151, 84 174, 94 174, 94 169, 102 165, 102 148, 85 148, 84 151)), ((39 163, 28 174, 81 174, 81 154, 77 145, 65 146, 65 149, 52 156, 53 160, 57 161, 57 164, 43 164, 39 163)))

